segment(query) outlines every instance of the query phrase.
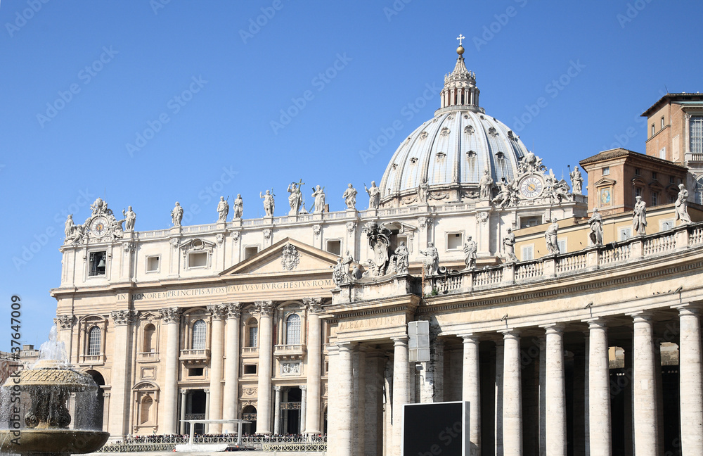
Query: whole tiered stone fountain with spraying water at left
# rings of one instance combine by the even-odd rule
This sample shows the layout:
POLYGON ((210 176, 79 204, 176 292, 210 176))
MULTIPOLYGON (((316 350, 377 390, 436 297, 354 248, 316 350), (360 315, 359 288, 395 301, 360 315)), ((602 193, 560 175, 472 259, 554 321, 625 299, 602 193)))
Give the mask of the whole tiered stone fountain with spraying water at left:
POLYGON ((67 408, 72 397, 80 415, 89 415, 97 390, 91 376, 66 362, 63 343, 57 341, 53 327, 49 341, 41 344, 37 363, 10 376, 0 388, 0 425, 7 426, 0 429, 0 453, 65 456, 98 450, 110 434, 68 429, 71 415, 67 408))

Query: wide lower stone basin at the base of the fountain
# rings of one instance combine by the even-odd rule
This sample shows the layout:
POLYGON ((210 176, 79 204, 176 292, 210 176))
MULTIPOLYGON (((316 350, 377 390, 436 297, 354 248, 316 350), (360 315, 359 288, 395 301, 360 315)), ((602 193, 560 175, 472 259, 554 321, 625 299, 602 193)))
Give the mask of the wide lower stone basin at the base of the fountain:
POLYGON ((0 453, 22 455, 62 456, 95 452, 110 437, 109 432, 80 429, 20 429, 0 430, 0 453), (19 433, 19 437, 17 437, 19 433), (17 443, 20 445, 17 445, 17 443))

